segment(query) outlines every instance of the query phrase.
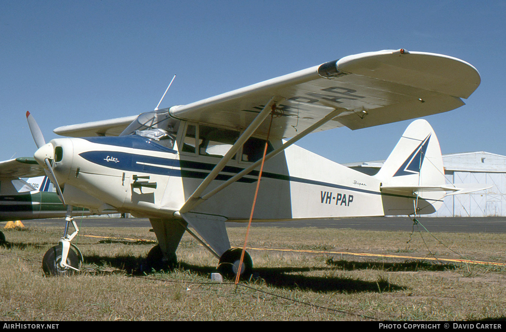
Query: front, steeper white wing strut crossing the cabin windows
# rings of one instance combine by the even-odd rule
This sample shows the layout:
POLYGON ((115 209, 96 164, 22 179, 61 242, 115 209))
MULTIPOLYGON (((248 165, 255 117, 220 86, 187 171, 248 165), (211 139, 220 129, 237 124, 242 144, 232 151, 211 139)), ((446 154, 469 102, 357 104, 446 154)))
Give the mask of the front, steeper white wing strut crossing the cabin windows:
POLYGON ((257 115, 257 117, 249 124, 248 128, 242 133, 242 135, 237 139, 237 141, 232 145, 230 150, 223 156, 223 158, 218 162, 213 171, 211 171, 207 177, 200 183, 200 185, 195 189, 193 194, 186 200, 183 204, 179 213, 187 213, 191 209, 194 208, 195 203, 200 199, 200 195, 202 192, 209 186, 209 184, 220 174, 223 168, 227 165, 230 159, 235 155, 237 150, 253 135, 253 133, 257 130, 257 128, 262 125, 262 122, 265 118, 276 108, 276 105, 284 100, 283 97, 273 96, 269 103, 267 103, 264 109, 257 115))

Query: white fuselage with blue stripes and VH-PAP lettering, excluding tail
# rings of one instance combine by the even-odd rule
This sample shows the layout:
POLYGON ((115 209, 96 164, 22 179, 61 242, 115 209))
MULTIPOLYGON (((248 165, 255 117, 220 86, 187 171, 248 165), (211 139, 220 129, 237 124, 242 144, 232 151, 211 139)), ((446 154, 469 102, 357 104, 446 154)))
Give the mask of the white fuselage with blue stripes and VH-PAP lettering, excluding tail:
MULTIPOLYGON (((54 171, 64 185, 67 203, 99 211, 112 207, 135 216, 172 217, 223 155, 216 148, 203 151, 202 144, 195 149, 195 139, 188 148, 183 135, 188 126, 196 125, 182 122, 172 148, 137 135, 51 141, 55 149, 61 147, 54 171)), ((270 141, 272 149, 282 144, 270 141)), ((261 157, 251 150, 261 151, 264 145, 258 139, 245 144, 208 191, 261 157)), ((193 211, 247 220, 258 173, 250 172, 193 211)), ((298 146, 267 161, 261 181, 255 220, 384 215, 377 179, 298 146)))

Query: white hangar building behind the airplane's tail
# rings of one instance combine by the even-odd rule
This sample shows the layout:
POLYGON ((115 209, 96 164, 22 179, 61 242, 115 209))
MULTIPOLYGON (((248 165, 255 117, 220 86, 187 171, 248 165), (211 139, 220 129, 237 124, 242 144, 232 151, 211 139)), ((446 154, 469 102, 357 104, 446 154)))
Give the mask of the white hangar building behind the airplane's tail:
MULTIPOLYGON (((345 166, 373 175, 385 160, 348 163, 345 166)), ((432 217, 506 217, 506 156, 489 152, 443 155, 447 183, 480 183, 490 189, 450 195, 432 217)))

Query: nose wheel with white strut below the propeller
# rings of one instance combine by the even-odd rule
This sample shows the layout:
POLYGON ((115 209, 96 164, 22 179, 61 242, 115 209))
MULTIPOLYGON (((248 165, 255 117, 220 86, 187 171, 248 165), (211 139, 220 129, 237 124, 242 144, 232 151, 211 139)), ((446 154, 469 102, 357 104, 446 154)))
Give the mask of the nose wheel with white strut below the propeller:
POLYGON ((79 272, 79 268, 83 261, 79 249, 74 244, 70 243, 79 232, 74 218, 72 218, 71 205, 67 207, 65 222, 65 232, 60 242, 58 242, 58 245, 48 250, 42 260, 42 269, 47 276, 70 275, 79 272), (70 223, 72 223, 75 231, 69 235, 68 227, 70 223), (70 247, 72 247, 72 249, 70 247))

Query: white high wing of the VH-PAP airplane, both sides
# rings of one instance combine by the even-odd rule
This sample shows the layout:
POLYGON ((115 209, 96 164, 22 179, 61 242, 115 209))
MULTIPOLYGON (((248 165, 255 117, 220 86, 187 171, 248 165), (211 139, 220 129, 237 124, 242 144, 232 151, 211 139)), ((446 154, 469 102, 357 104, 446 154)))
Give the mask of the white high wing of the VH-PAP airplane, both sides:
MULTIPOLYGON (((171 116, 242 130, 274 97, 271 137, 288 138, 311 127, 331 112, 335 117, 314 131, 346 126, 352 130, 450 111, 464 105, 480 85, 469 63, 445 55, 385 50, 326 62, 215 97, 170 108, 171 116)), ((60 127, 55 133, 119 134, 134 117, 60 127), (126 124, 126 125, 125 125, 126 124), (94 129, 99 128, 98 130, 94 129), (102 126, 102 127, 100 127, 102 126), (80 130, 80 131, 79 131, 80 130)), ((269 121, 255 132, 266 136, 269 121)), ((92 136, 92 135, 88 135, 92 136)))

